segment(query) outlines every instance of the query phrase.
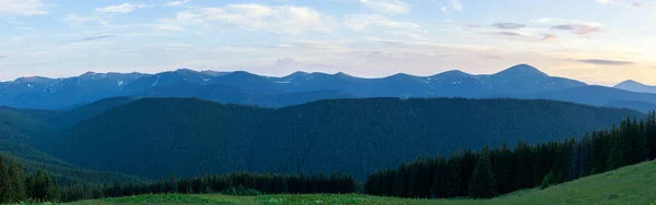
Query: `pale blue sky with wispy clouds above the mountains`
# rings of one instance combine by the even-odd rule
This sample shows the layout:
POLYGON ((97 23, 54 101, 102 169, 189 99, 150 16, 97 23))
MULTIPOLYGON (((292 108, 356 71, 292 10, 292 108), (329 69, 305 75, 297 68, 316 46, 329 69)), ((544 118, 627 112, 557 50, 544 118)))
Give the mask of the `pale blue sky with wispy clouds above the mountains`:
POLYGON ((656 0, 0 0, 0 81, 180 68, 364 77, 519 63, 656 84, 656 0))

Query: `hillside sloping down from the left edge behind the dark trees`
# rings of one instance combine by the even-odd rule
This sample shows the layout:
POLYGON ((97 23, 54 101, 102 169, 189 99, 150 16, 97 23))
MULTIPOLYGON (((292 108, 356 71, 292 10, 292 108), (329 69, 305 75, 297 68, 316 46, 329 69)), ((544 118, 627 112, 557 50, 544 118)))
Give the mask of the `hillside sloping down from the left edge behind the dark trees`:
POLYGON ((37 170, 47 171, 57 179, 60 184, 112 184, 114 182, 137 183, 148 181, 120 173, 79 168, 32 147, 17 145, 2 140, 0 140, 0 155, 16 159, 28 172, 35 172, 37 170))

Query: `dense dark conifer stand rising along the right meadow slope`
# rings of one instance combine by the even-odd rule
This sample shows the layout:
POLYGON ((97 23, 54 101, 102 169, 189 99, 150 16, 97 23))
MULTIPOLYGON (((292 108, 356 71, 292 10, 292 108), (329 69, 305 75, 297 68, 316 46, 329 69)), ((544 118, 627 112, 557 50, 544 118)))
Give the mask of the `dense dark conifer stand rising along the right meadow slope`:
POLYGON ((397 169, 372 173, 367 194, 398 197, 490 198, 522 189, 572 181, 656 158, 656 112, 646 120, 626 118, 619 126, 586 133, 567 141, 514 149, 485 146, 448 158, 418 158, 397 169))

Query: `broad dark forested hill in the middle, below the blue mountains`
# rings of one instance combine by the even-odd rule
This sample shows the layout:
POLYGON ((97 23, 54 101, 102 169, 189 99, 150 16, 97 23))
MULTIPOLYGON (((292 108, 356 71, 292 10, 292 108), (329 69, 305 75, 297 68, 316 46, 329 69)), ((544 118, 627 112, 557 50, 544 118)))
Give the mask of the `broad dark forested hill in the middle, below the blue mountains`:
POLYGON ((269 109, 147 98, 82 122, 56 137, 50 153, 151 179, 244 170, 364 179, 415 157, 564 140, 628 116, 643 117, 550 100, 368 98, 269 109))

